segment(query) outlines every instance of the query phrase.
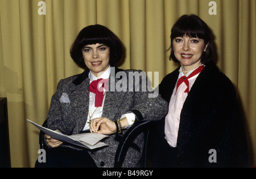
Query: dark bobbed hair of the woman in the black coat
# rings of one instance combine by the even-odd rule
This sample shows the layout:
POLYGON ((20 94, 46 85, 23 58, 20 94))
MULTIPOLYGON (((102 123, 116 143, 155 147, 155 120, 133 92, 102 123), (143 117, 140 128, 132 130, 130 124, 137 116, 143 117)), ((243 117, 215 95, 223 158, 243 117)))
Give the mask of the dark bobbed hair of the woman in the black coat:
POLYGON ((177 37, 188 36, 189 38, 204 39, 204 45, 207 45, 207 49, 201 56, 201 63, 207 64, 212 59, 213 53, 213 41, 211 38, 212 32, 207 24, 196 15, 182 15, 174 24, 171 30, 171 55, 169 60, 179 63, 174 55, 174 48, 172 41, 177 37))

